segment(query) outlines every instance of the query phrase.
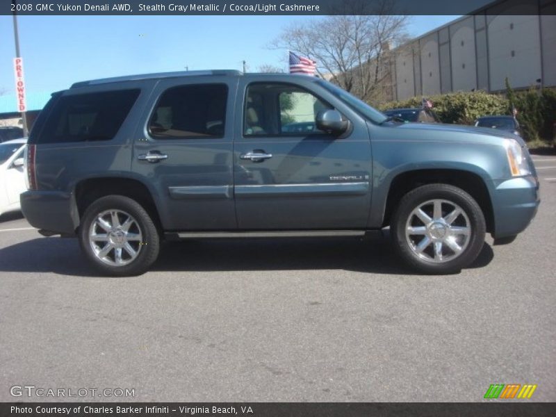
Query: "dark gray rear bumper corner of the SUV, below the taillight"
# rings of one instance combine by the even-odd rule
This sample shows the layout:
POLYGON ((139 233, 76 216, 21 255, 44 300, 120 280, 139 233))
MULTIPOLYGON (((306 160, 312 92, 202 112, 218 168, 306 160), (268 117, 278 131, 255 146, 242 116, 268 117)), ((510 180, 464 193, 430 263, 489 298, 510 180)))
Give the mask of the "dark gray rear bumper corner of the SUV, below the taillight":
POLYGON ((26 191, 20 201, 25 218, 37 229, 54 234, 74 234, 79 225, 79 212, 70 193, 26 191))

